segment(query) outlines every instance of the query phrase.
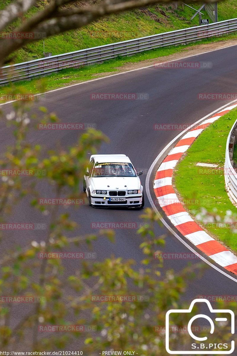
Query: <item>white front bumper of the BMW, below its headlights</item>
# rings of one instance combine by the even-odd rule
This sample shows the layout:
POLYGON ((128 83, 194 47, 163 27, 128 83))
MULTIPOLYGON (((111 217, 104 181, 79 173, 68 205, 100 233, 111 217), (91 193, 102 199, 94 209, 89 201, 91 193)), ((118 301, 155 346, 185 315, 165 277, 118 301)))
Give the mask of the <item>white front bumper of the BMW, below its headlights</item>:
POLYGON ((142 204, 142 195, 129 195, 121 198, 125 198, 125 201, 109 201, 109 198, 116 197, 103 197, 101 195, 92 195, 91 194, 91 204, 94 206, 140 206, 142 204), (105 198, 105 199, 104 199, 105 198))

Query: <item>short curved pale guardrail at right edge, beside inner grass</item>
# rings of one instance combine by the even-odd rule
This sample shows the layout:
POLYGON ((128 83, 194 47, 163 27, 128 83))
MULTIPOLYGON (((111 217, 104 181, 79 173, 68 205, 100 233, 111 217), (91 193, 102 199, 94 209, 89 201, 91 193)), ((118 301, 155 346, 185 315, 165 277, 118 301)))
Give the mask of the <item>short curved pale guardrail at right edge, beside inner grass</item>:
POLYGON ((232 126, 226 142, 224 176, 227 193, 233 204, 237 205, 237 173, 233 167, 233 148, 237 141, 237 120, 232 126))

